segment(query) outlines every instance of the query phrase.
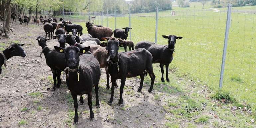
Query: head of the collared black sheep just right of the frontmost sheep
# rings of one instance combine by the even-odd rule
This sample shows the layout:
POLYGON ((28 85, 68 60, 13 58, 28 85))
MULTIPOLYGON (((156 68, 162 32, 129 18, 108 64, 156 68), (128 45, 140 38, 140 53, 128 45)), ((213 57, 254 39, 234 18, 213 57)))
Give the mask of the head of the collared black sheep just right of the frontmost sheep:
POLYGON ((109 40, 107 43, 101 43, 100 46, 106 47, 110 58, 114 58, 118 54, 119 47, 125 47, 125 43, 120 43, 117 39, 109 40))

